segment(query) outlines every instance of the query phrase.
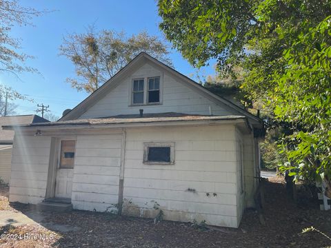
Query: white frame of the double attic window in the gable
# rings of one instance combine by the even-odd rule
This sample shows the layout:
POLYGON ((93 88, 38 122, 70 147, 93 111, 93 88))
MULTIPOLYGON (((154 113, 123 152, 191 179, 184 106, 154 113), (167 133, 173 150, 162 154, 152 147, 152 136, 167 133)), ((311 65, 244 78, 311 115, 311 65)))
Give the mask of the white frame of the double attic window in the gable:
POLYGON ((128 85, 128 106, 135 107, 135 106, 150 106, 150 105, 162 105, 163 104, 163 73, 159 74, 150 74, 148 76, 145 75, 133 75, 131 80, 129 81, 128 85), (148 79, 159 77, 160 79, 160 98, 158 103, 148 103, 148 79), (134 80, 143 79, 143 103, 133 103, 133 82, 134 80))

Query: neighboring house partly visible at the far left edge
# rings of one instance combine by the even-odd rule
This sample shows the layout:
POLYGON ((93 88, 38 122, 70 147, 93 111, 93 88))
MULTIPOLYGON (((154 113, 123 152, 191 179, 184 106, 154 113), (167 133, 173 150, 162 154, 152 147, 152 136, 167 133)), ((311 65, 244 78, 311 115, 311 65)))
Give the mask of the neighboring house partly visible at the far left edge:
POLYGON ((12 141, 14 139, 14 131, 3 130, 1 126, 44 123, 47 121, 36 114, 0 117, 0 183, 8 184, 10 181, 12 141))

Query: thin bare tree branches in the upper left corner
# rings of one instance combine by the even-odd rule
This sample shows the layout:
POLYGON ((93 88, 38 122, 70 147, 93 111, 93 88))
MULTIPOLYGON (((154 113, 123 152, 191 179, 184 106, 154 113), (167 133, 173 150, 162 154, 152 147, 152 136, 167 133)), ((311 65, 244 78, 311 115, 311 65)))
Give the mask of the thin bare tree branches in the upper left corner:
POLYGON ((37 72, 36 69, 24 65, 32 56, 17 52, 21 48, 19 39, 10 36, 10 30, 16 25, 33 25, 32 17, 46 11, 20 6, 17 0, 0 1, 0 72, 37 72))

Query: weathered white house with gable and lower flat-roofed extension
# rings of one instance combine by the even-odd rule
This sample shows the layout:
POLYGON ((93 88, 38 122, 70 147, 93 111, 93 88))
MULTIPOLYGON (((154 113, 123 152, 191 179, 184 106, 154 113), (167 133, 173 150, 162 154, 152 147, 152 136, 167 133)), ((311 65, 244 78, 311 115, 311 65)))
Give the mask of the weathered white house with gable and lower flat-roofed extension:
POLYGON ((261 119, 146 53, 59 121, 5 128, 10 202, 224 227, 254 205, 261 119))

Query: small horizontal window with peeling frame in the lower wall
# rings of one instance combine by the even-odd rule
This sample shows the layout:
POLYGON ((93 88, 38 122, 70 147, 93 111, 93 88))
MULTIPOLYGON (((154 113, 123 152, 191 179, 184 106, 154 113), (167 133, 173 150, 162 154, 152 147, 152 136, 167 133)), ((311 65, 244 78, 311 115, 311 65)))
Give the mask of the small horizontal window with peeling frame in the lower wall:
POLYGON ((173 164, 174 143, 144 143, 143 163, 173 164))

